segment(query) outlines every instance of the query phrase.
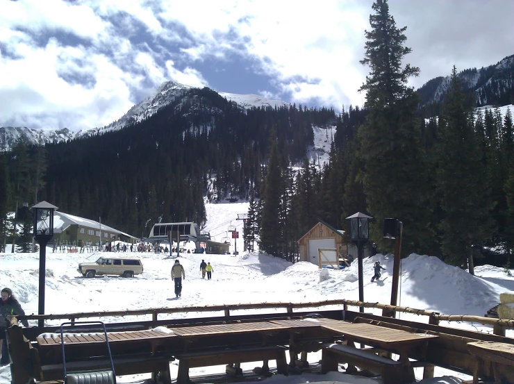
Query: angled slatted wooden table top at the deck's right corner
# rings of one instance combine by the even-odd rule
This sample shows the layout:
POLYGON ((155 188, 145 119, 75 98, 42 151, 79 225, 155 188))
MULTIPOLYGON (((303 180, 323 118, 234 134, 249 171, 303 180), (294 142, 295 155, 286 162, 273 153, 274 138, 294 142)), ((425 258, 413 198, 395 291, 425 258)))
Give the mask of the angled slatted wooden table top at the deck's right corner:
POLYGON ((352 324, 340 322, 340 324, 322 324, 322 327, 355 339, 357 342, 372 342, 375 344, 413 343, 438 337, 437 335, 410 333, 399 329, 386 328, 365 323, 352 324))

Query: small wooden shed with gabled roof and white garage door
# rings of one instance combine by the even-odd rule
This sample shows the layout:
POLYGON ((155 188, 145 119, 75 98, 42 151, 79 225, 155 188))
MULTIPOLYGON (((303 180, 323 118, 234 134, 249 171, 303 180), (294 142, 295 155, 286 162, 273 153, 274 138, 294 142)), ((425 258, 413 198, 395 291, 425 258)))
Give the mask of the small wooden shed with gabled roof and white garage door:
POLYGON ((347 253, 347 245, 343 243, 345 231, 335 229, 320 220, 313 228, 298 240, 300 261, 309 261, 320 265, 319 249, 336 249, 338 256, 347 253))

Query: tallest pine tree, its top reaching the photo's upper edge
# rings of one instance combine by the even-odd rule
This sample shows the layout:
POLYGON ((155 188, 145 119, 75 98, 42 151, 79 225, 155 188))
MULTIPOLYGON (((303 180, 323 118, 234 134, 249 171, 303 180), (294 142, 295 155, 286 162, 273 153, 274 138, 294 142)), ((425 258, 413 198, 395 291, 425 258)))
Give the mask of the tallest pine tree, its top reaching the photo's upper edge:
POLYGON ((358 132, 368 212, 379 223, 373 226, 372 237, 383 248, 392 247, 391 242, 381 241, 381 224, 385 217, 396 217, 404 223, 405 253, 429 251, 426 165, 415 115, 417 97, 407 85, 408 78, 420 70, 401 65, 411 49, 404 46, 406 27, 397 28, 387 0, 376 0, 372 9, 372 30, 365 31, 365 58, 360 61, 371 70, 360 87, 366 91, 368 115, 358 132))

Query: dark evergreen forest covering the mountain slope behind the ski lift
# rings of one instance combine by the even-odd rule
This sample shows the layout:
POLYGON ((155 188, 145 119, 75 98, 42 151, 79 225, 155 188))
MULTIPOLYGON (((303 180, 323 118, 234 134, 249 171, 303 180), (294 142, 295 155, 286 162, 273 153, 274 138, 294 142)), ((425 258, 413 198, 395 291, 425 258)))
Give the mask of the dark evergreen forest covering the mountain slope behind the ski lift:
POLYGON ((156 222, 201 226, 205 199, 248 199, 260 188, 270 135, 284 161, 298 162, 313 144, 312 126, 333 120, 326 108, 244 110, 208 88, 191 90, 122 131, 45 147, 20 141, 1 158, 10 178, 1 179, 0 193, 11 198, 2 199, 0 215, 15 210, 15 196, 32 205, 38 185, 39 200, 138 237, 156 222))

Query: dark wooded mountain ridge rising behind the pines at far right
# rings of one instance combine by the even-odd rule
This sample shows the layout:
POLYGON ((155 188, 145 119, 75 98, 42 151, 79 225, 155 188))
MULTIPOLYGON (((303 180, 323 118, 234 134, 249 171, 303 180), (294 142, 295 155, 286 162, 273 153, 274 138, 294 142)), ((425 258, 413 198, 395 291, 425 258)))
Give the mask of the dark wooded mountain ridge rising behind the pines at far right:
MULTIPOLYGON (((464 92, 474 92, 477 106, 486 104, 504 106, 514 99, 514 55, 495 65, 459 72, 464 92)), ((419 90, 421 106, 443 101, 450 84, 450 76, 439 76, 428 81, 419 90)))

